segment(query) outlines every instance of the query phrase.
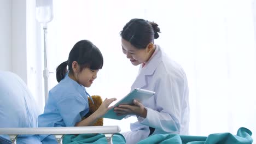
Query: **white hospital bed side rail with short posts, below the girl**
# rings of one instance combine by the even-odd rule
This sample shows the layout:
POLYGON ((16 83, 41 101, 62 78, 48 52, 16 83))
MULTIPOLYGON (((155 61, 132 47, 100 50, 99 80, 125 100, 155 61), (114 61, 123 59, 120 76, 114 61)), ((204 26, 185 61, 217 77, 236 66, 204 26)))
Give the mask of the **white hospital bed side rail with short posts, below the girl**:
POLYGON ((9 135, 11 143, 16 144, 18 135, 55 135, 58 144, 62 144, 65 134, 99 134, 106 136, 108 144, 112 144, 112 136, 119 133, 119 126, 90 126, 90 127, 54 127, 54 128, 0 128, 0 135, 9 135))

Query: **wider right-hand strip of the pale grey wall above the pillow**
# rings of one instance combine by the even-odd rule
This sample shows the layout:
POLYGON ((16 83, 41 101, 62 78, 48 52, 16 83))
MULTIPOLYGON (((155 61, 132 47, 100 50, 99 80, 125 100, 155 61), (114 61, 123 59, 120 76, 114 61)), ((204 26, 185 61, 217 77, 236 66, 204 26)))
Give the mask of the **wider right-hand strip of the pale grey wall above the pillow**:
POLYGON ((12 71, 27 83, 26 0, 12 2, 12 71))

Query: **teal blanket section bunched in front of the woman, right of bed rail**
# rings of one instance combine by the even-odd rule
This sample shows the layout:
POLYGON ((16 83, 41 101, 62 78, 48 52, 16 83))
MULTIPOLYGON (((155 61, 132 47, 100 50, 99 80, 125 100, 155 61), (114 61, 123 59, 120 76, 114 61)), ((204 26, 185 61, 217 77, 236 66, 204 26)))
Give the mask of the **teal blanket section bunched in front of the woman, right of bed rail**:
POLYGON ((138 142, 137 144, 146 143, 177 143, 177 144, 202 144, 202 143, 222 143, 222 144, 251 144, 253 139, 251 137, 252 132, 247 128, 240 128, 237 131, 237 135, 230 133, 211 134, 207 136, 185 136, 177 134, 155 134, 149 136, 147 139, 138 142))

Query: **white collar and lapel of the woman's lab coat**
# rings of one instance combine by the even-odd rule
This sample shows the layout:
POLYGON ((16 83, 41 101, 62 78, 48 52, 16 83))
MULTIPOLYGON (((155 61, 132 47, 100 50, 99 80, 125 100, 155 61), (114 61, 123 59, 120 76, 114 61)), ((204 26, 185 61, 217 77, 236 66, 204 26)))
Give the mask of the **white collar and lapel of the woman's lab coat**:
POLYGON ((135 82, 132 85, 132 89, 134 88, 143 88, 147 85, 147 76, 151 76, 154 74, 155 69, 158 67, 159 63, 162 61, 162 51, 159 45, 156 45, 156 49, 158 49, 158 52, 146 65, 145 68, 142 68, 142 66, 139 68, 139 74, 135 80, 135 82))

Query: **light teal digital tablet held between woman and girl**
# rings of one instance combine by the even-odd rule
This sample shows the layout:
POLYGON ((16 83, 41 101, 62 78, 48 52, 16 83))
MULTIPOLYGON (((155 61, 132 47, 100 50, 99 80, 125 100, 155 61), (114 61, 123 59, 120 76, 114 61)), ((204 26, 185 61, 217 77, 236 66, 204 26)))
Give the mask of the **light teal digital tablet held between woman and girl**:
MULTIPOLYGON (((121 104, 126 105, 133 105, 133 100, 136 99, 140 102, 143 102, 144 100, 149 99, 155 94, 153 91, 148 91, 146 89, 141 88, 135 88, 133 89, 129 94, 127 94, 123 99, 118 101, 117 104, 114 105, 114 107, 117 107, 121 104)), ((118 116, 117 113, 114 112, 114 107, 110 109, 103 117, 104 118, 111 118, 111 119, 123 119, 126 115, 118 116)))

